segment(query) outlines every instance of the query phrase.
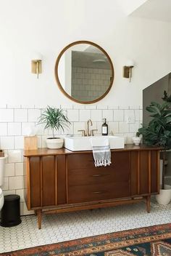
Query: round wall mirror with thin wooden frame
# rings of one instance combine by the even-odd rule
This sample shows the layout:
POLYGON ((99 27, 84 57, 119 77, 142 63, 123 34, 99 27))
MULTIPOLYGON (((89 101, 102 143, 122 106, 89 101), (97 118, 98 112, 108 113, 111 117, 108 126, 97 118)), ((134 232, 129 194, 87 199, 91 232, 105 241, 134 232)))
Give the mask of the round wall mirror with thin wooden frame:
POLYGON ((55 65, 59 89, 77 103, 89 104, 107 95, 114 80, 112 60, 91 41, 75 41, 62 49, 55 65))

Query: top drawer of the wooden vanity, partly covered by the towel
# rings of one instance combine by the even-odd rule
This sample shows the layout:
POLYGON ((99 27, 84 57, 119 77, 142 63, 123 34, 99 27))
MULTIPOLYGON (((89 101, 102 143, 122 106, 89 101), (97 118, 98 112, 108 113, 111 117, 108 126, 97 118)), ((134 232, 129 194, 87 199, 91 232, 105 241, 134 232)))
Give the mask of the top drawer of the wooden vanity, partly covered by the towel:
MULTIPOLYGON (((70 169, 90 169, 101 167, 94 166, 93 153, 75 153, 67 156, 67 167, 70 169)), ((112 152, 111 153, 112 164, 109 167, 114 169, 129 169, 130 154, 129 152, 112 152)), ((109 168, 105 167, 105 169, 109 168)))

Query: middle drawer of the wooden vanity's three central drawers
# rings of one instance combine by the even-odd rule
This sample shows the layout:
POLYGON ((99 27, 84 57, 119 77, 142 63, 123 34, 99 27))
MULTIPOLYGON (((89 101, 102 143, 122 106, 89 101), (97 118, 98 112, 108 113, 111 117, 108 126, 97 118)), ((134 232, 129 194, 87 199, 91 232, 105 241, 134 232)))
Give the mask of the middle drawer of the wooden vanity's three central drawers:
POLYGON ((129 169, 120 169, 120 172, 117 172, 114 167, 71 169, 68 171, 67 178, 69 186, 121 183, 128 180, 130 180, 129 169))

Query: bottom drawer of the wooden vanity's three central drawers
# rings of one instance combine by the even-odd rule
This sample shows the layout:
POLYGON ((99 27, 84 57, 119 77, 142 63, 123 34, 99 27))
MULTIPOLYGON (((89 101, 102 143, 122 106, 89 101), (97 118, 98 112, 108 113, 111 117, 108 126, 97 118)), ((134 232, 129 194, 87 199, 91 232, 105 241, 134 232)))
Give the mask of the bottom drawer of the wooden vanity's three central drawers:
POLYGON ((70 186, 68 189, 69 204, 117 199, 128 196, 130 196, 130 183, 126 181, 98 185, 70 186))

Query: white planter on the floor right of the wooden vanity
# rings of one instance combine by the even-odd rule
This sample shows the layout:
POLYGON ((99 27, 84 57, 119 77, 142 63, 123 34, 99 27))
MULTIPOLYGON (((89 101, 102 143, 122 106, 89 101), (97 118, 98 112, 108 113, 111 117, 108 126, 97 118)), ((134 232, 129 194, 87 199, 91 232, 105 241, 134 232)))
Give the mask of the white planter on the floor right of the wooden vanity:
POLYGON ((171 201, 171 186, 165 185, 164 189, 160 189, 159 195, 156 195, 157 203, 167 205, 171 201))

